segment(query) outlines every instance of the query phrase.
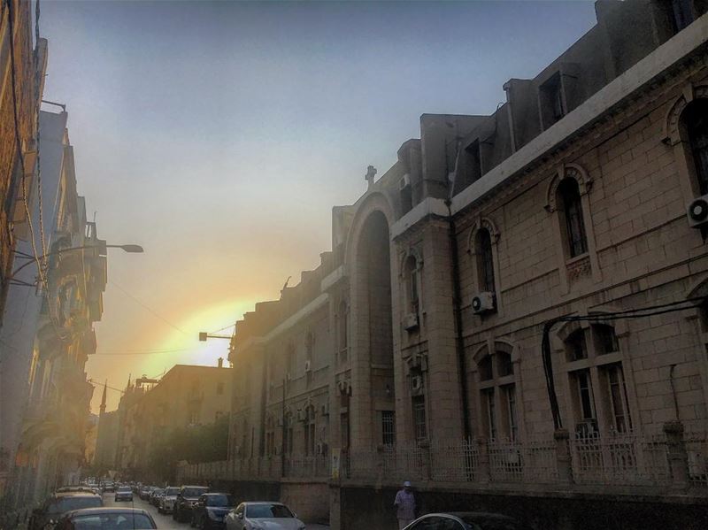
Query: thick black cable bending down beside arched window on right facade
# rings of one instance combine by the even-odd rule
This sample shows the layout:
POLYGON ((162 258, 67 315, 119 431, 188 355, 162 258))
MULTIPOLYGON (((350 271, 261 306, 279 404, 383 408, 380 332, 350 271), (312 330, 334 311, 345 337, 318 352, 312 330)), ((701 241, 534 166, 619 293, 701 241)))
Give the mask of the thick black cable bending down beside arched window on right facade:
POLYGON ((550 329, 558 324, 558 322, 576 322, 576 321, 606 321, 620 319, 643 319, 663 315, 674 311, 686 311, 696 309, 706 301, 705 297, 687 298, 678 302, 661 303, 649 307, 630 309, 625 311, 609 311, 606 313, 594 313, 589 315, 568 315, 566 317, 558 317, 558 319, 550 319, 543 323, 543 337, 541 341, 541 357, 543 361, 543 375, 546 380, 546 390, 548 392, 550 402, 550 412, 553 416, 553 425, 556 429, 563 428, 563 420, 560 417, 560 409, 558 406, 558 396, 556 395, 556 386, 553 380, 553 362, 550 355, 550 329))

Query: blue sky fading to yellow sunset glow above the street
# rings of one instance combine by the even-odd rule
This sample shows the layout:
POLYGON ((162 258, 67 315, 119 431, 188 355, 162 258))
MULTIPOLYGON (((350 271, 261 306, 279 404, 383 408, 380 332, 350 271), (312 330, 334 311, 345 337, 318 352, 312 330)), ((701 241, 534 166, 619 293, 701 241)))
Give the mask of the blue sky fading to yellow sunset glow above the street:
POLYGON ((595 21, 580 1, 43 0, 44 99, 66 104, 89 218, 145 249, 110 251, 89 379, 216 365, 228 342, 198 332, 319 265, 332 207, 396 162, 421 114, 493 112, 505 81, 595 21))

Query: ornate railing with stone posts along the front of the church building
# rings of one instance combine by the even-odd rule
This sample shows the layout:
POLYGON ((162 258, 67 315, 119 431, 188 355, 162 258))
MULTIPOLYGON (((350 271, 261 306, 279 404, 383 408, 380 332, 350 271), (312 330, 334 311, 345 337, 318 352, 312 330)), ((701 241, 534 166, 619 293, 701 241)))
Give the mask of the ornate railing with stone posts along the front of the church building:
MULTIPOLYGON (((180 468, 181 480, 333 477, 331 457, 250 458, 180 468)), ((340 480, 469 483, 471 488, 612 486, 708 495, 708 434, 669 423, 658 434, 568 434, 516 442, 473 439, 398 444, 342 454, 340 480)))

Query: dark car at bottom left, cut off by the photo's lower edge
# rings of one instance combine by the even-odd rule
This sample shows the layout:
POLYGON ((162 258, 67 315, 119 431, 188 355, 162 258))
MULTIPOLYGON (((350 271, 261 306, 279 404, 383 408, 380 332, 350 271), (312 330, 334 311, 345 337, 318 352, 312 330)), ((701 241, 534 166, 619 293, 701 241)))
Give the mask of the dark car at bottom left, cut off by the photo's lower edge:
POLYGON ((55 530, 151 530, 157 527, 150 513, 139 508, 89 508, 65 513, 55 530))

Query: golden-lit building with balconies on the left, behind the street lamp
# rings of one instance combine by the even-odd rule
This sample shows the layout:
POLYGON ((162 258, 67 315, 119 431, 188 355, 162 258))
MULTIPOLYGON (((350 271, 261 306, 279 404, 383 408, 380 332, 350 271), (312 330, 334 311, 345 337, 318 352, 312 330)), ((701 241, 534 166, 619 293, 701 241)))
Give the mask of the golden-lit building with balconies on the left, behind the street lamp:
MULTIPOLYGON (((35 260, 18 246, 8 296, 0 411, 4 449, 12 456, 5 493, 16 505, 41 500, 75 480, 84 465, 93 387, 84 366, 96 352, 94 323, 103 314, 106 246, 76 191, 67 113, 42 111, 42 196, 47 253, 35 260), (42 265, 36 263, 39 261, 42 265)), ((36 204, 36 203, 34 203, 36 204)), ((36 234, 39 237, 38 234, 36 234)))

